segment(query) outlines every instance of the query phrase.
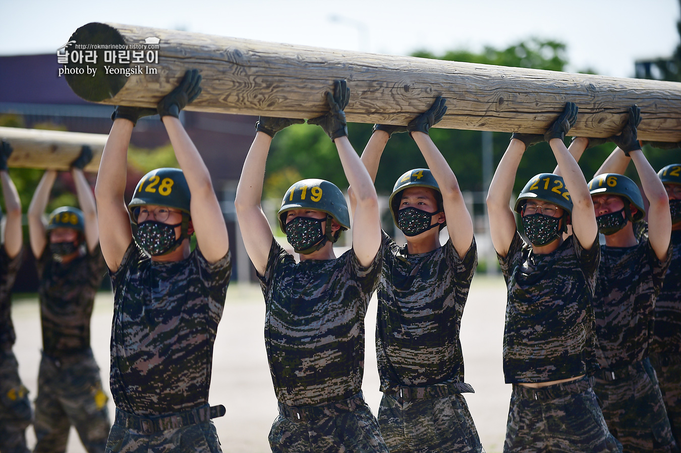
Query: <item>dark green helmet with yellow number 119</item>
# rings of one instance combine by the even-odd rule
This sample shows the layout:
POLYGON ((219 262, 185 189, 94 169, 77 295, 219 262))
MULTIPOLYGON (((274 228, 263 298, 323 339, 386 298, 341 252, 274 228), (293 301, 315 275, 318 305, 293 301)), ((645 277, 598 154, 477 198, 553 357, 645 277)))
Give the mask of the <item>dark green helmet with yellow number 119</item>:
POLYGON ((343 192, 340 192, 340 189, 332 182, 309 179, 298 181, 289 187, 281 200, 281 207, 279 213, 277 213, 281 231, 286 233, 286 213, 291 209, 300 209, 301 207, 329 214, 340 224, 339 234, 340 231, 350 228, 347 202, 343 192))

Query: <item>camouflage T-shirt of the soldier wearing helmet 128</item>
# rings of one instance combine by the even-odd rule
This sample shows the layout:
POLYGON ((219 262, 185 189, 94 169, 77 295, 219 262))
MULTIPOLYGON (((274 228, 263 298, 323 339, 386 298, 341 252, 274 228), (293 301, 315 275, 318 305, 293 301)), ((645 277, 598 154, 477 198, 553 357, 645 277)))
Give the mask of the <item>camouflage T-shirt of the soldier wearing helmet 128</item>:
POLYGON ((232 273, 229 251, 208 263, 199 248, 159 263, 135 241, 111 274, 110 386, 116 407, 138 416, 208 403, 212 352, 232 273))

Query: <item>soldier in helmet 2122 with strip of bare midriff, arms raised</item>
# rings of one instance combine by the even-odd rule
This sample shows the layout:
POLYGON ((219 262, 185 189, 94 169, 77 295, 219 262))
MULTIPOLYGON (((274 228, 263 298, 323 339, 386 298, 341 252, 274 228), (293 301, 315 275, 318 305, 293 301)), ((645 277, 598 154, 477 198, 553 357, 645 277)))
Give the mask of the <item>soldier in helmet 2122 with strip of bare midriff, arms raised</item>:
POLYGON ((508 288, 503 368, 513 384, 504 452, 620 452, 587 376, 597 367, 591 299, 598 227, 580 167, 563 144, 577 106, 544 135, 515 133, 487 196, 492 243, 508 288), (542 173, 508 201, 526 148, 548 141, 565 179, 542 173), (568 192, 569 190, 569 192, 568 192), (573 235, 563 239, 571 220, 573 235))

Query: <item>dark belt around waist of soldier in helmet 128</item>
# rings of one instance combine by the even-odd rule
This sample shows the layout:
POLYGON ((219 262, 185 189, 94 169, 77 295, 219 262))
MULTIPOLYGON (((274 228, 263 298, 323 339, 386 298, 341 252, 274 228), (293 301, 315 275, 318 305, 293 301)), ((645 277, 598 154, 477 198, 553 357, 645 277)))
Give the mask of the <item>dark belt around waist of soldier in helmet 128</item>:
POLYGON ((226 412, 227 410, 223 405, 209 406, 206 404, 187 412, 140 417, 123 412, 116 407, 115 423, 142 434, 153 434, 168 429, 178 429, 183 426, 208 422, 211 418, 225 415, 226 412))

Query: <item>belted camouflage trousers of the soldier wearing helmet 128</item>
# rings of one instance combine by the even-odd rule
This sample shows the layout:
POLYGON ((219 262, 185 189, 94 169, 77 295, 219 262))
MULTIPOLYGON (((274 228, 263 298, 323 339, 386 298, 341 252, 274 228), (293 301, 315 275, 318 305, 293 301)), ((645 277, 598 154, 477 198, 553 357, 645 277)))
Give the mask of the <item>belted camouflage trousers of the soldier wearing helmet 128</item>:
POLYGON ((209 411, 205 405, 187 412, 142 418, 116 409, 106 453, 221 453, 209 411))

